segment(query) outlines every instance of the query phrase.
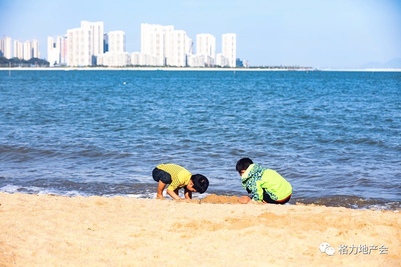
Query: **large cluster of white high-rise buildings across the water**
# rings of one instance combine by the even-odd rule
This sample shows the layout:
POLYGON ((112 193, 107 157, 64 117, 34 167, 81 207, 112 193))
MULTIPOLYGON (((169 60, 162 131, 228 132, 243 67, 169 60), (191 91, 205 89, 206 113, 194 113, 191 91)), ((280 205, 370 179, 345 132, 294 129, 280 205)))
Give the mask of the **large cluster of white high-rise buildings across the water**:
POLYGON ((68 29, 65 36, 48 37, 47 58, 50 67, 236 67, 243 64, 248 67, 247 61, 236 58, 237 35, 223 34, 222 40, 222 53, 216 55, 216 38, 210 34, 196 35, 197 52, 193 54, 192 39, 185 31, 174 29, 173 25, 142 23, 141 51, 129 53, 125 51, 123 31, 105 33, 104 22, 81 21, 81 27, 68 29))

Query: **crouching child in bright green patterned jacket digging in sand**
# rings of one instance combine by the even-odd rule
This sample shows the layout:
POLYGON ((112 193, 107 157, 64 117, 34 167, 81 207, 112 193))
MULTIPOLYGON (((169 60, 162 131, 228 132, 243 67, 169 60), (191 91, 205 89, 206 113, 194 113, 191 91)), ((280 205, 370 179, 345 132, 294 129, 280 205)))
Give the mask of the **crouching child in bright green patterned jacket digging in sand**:
MULTIPOLYGON (((252 193, 252 199, 270 204, 285 204, 292 194, 291 184, 274 170, 254 164, 250 158, 237 162, 237 171, 241 175, 242 187, 252 193)), ((248 203, 248 196, 240 197, 241 203, 248 203)))

